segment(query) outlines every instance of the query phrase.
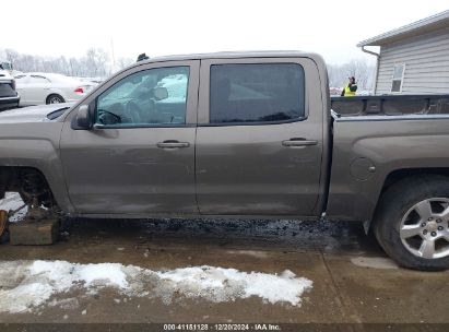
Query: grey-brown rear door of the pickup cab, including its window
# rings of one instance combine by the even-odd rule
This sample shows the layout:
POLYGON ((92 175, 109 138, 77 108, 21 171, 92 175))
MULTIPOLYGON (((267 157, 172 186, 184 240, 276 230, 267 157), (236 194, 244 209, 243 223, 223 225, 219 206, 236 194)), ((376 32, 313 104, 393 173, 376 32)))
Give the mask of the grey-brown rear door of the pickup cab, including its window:
POLYGON ((205 215, 312 215, 323 151, 308 58, 201 61, 197 200, 205 215))

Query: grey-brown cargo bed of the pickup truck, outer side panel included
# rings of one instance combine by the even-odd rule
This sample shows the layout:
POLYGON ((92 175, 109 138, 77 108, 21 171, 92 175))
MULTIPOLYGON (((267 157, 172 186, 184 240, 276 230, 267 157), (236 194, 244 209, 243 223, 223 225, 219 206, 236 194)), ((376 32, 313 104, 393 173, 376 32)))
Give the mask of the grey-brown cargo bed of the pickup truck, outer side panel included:
POLYGON ((332 111, 330 220, 367 221, 389 178, 447 169, 449 95, 336 97, 332 104, 340 114, 332 111))

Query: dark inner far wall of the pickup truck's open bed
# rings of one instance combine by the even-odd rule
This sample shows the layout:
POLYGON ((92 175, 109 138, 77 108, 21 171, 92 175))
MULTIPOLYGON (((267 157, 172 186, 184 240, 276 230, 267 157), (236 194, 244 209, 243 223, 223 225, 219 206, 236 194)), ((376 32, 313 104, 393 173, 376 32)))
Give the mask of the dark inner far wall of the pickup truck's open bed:
POLYGON ((448 115, 449 94, 331 97, 338 117, 448 115))

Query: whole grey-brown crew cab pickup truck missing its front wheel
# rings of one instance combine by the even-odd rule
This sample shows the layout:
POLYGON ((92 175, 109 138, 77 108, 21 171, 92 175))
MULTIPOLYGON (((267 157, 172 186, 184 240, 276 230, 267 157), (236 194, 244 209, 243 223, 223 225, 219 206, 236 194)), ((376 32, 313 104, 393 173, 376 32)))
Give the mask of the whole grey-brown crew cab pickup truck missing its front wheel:
POLYGON ((73 217, 363 222, 403 266, 446 269, 448 96, 391 100, 331 111, 315 54, 140 61, 72 106, 2 112, 0 198, 73 217))

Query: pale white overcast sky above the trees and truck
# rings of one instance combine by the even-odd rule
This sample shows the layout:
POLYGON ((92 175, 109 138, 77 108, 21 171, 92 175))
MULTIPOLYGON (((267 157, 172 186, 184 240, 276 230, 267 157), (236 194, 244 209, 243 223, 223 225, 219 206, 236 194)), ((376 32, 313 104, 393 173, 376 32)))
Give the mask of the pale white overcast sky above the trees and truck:
POLYGON ((11 0, 0 48, 79 57, 114 44, 116 59, 297 49, 342 63, 364 56, 358 42, 447 9, 449 0, 11 0))

